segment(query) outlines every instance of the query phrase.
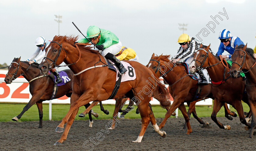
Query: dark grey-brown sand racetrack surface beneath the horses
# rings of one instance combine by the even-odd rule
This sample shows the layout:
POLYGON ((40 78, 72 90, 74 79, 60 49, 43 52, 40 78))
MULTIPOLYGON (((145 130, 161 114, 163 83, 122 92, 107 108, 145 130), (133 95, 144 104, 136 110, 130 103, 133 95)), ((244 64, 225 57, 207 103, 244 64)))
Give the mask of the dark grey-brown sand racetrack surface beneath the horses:
MULTIPOLYGON (((210 122, 209 127, 201 125, 192 117, 190 124, 193 132, 187 135, 187 130, 182 130, 183 118, 169 118, 162 128, 167 134, 162 138, 155 131, 151 123, 144 134, 141 143, 133 143, 136 140, 140 128, 141 119, 120 119, 116 129, 106 130, 110 120, 94 120, 93 127, 88 127, 89 121, 74 121, 69 131, 67 140, 61 146, 53 144, 62 133, 54 132, 60 121, 43 121, 43 128, 38 129, 39 121, 32 122, 0 122, 0 150, 254 150, 256 136, 250 139, 249 131, 244 130, 239 117, 232 121, 225 117, 217 117, 223 124, 229 124, 231 130, 220 129, 210 117, 203 117, 210 122), (105 136, 98 137, 97 133, 105 136), (94 144, 90 138, 94 137, 94 144), (84 143, 86 142, 86 143, 84 143), (83 145, 84 144, 84 145, 83 145), (88 148, 84 148, 88 146, 88 148)), ((157 119, 158 125, 162 119, 157 119)))

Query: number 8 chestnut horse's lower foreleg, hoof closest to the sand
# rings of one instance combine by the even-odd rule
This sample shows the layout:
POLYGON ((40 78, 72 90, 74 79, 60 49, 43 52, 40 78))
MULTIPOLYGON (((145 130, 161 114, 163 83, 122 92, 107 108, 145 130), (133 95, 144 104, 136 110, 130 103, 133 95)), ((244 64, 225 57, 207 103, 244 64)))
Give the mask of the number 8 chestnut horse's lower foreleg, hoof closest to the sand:
POLYGON ((79 110, 79 108, 74 110, 72 112, 72 114, 69 116, 69 119, 68 119, 68 122, 67 122, 67 125, 66 125, 66 128, 65 128, 63 134, 61 135, 60 139, 54 145, 61 145, 62 142, 64 142, 67 139, 67 136, 68 136, 68 133, 69 133, 69 129, 70 129, 71 125, 74 122, 74 119, 76 117, 76 114, 77 114, 78 110, 79 110))

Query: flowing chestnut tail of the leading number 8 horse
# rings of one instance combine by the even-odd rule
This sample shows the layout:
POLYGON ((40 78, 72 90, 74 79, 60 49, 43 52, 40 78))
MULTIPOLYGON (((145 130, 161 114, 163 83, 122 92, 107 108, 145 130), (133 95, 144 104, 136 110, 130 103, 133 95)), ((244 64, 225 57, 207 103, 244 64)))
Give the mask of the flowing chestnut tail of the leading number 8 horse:
MULTIPOLYGON (((153 72, 154 73, 154 72, 153 72)), ((157 84, 156 88, 153 90, 153 97, 157 99, 160 102, 160 106, 164 109, 169 108, 171 106, 171 102, 169 101, 169 91, 165 87, 164 84, 162 84, 159 80, 159 78, 154 73, 154 79, 155 84, 157 84)))

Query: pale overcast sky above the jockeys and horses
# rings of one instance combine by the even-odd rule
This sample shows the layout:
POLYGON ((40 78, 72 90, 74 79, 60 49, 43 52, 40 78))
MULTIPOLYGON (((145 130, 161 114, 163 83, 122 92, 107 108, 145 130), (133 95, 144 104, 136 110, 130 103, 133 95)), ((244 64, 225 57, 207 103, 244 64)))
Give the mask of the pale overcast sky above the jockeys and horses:
POLYGON ((223 29, 254 48, 255 6, 256 2, 249 0, 1 0, 0 64, 9 65, 14 57, 20 56, 26 60, 37 49, 37 37, 52 40, 58 35, 55 15, 62 15, 60 35, 84 38, 72 22, 84 35, 90 25, 108 29, 123 46, 136 51, 143 65, 148 64, 153 53, 176 54, 180 47, 176 41, 182 34, 179 23, 187 24, 184 33, 190 37, 201 39, 205 45, 211 43, 215 53, 223 29), (222 19, 215 18, 219 24, 211 18, 216 15, 222 19))

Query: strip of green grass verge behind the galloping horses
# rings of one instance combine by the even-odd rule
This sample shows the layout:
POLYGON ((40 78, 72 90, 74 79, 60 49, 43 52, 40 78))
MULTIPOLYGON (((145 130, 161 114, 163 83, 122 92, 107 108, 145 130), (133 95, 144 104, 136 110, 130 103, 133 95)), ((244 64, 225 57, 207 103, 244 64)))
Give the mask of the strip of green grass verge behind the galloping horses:
MULTIPOLYGON (((8 122, 12 121, 12 118, 18 116, 20 112, 23 110, 23 107, 26 104, 20 103, 0 103, 0 122, 8 122)), ((243 102, 244 111, 248 112, 249 107, 246 103, 243 102)), ((93 119, 112 119, 112 114, 114 112, 114 105, 104 105, 105 109, 109 110, 109 115, 106 115, 100 110, 100 106, 96 105, 93 110, 99 114, 98 118, 93 116, 93 119)), ((188 107, 186 106, 188 109, 188 107)), ((136 114, 135 109, 126 114, 126 119, 140 119, 140 114, 136 114)), ((166 110, 162 109, 160 106, 152 106, 155 118, 163 118, 165 116, 166 110)), ((52 104, 52 120, 61 120, 69 110, 69 104, 52 104)), ((85 107, 80 107, 78 114, 83 112, 85 107)), ((236 111, 232 106, 230 106, 231 111, 236 111)), ((212 114, 212 108, 208 108, 208 106, 196 106, 196 112, 199 117, 209 117, 212 114)), ((43 120, 49 120, 49 105, 43 104, 43 120)), ((224 117, 224 108, 222 107, 218 112, 217 116, 224 117)), ((178 117, 183 117, 182 113, 178 112, 178 117)), ((191 115, 193 116, 193 115, 191 115)), ((174 117, 174 116, 171 116, 174 117)), ((75 120, 87 120, 89 117, 86 115, 84 118, 80 118, 76 116, 75 120)), ((19 119, 19 121, 39 121, 39 114, 37 106, 34 104, 27 112, 23 114, 23 116, 19 119)))

